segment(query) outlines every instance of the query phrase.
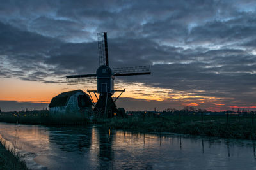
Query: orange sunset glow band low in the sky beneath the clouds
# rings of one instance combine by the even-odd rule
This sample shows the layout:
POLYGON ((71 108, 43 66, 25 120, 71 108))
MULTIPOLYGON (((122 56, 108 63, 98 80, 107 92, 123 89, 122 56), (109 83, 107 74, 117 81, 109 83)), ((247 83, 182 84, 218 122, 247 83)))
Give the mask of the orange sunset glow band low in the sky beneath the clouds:
MULTIPOLYGON (((67 85, 66 83, 40 83, 35 81, 23 81, 19 79, 3 79, 0 88, 1 99, 6 101, 18 101, 18 102, 29 102, 29 103, 50 103, 52 97, 57 96, 61 92, 66 92, 68 90, 81 89, 84 92, 87 89, 95 90, 95 84, 90 84, 87 87, 85 85, 67 85)), ((216 103, 216 101, 225 100, 225 98, 210 97, 210 96, 198 96, 193 93, 186 93, 182 91, 175 91, 172 89, 161 89, 156 87, 148 87, 143 83, 128 83, 126 87, 120 84, 116 84, 116 87, 120 90, 125 89, 126 91, 122 94, 122 97, 129 97, 132 99, 145 99, 150 103, 150 101, 177 101, 180 104, 178 107, 182 106, 198 106, 204 107, 205 103, 212 103, 214 106, 224 106, 225 104, 216 103), (193 100, 191 100, 193 99, 193 100), (196 102, 193 102, 196 101, 196 102)), ((117 89, 116 88, 116 89, 117 89)), ((88 92, 86 92, 88 93, 88 92)), ((114 97, 117 97, 120 93, 116 92, 114 97)), ((99 94, 98 94, 99 97, 99 94)), ((94 102, 97 102, 96 97, 92 93, 92 98, 94 102)), ((232 106, 232 108, 246 108, 232 106)), ((255 108, 254 106, 249 106, 248 108, 255 108)), ((163 108, 164 109, 164 108, 163 108)), ((218 109, 209 108, 210 110, 218 109)))

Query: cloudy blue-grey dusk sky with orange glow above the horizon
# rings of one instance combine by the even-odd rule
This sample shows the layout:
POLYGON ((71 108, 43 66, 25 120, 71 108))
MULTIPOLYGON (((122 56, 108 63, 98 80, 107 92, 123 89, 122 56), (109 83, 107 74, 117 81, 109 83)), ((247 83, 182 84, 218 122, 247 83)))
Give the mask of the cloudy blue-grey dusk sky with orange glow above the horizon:
MULTIPOLYGON (((99 67, 151 66, 118 77, 126 110, 256 108, 256 1, 0 0, 0 108, 42 109, 52 97, 95 85, 65 76, 99 67)), ((118 94, 116 94, 118 96, 118 94)))

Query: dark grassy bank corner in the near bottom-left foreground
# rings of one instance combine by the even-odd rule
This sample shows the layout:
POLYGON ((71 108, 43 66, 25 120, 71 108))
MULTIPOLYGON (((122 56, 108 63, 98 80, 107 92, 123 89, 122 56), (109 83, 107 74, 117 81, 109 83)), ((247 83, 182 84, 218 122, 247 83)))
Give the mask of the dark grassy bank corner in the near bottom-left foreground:
POLYGON ((4 143, 0 142, 0 169, 28 169, 26 163, 20 159, 20 155, 7 150, 4 143))

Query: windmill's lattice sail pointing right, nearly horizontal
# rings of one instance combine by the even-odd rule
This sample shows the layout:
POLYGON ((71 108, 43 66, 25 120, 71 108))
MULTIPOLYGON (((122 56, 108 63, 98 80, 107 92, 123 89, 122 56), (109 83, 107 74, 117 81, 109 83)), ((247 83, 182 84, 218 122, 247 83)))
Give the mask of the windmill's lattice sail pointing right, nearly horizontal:
POLYGON ((115 76, 136 76, 151 74, 150 66, 120 67, 113 69, 115 76))

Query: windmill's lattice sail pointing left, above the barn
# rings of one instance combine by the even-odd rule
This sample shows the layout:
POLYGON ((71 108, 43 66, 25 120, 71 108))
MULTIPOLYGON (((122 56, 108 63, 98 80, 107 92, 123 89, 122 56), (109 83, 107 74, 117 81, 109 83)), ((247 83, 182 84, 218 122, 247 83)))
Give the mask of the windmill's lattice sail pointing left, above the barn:
POLYGON ((97 83, 96 74, 84 74, 84 75, 74 75, 66 76, 67 84, 83 84, 83 83, 97 83))

